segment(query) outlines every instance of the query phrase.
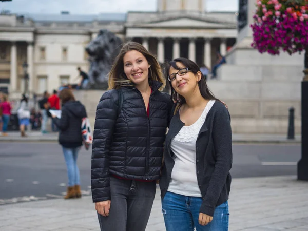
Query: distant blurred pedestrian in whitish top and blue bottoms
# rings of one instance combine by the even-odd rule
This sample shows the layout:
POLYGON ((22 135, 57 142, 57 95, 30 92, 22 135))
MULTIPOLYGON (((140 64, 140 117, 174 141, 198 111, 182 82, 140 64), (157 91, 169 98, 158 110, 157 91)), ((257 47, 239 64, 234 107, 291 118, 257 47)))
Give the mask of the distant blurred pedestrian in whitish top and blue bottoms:
POLYGON ((21 104, 17 110, 17 116, 20 123, 21 136, 26 137, 25 127, 30 125, 30 111, 28 107, 28 97, 25 94, 22 95, 21 104))

